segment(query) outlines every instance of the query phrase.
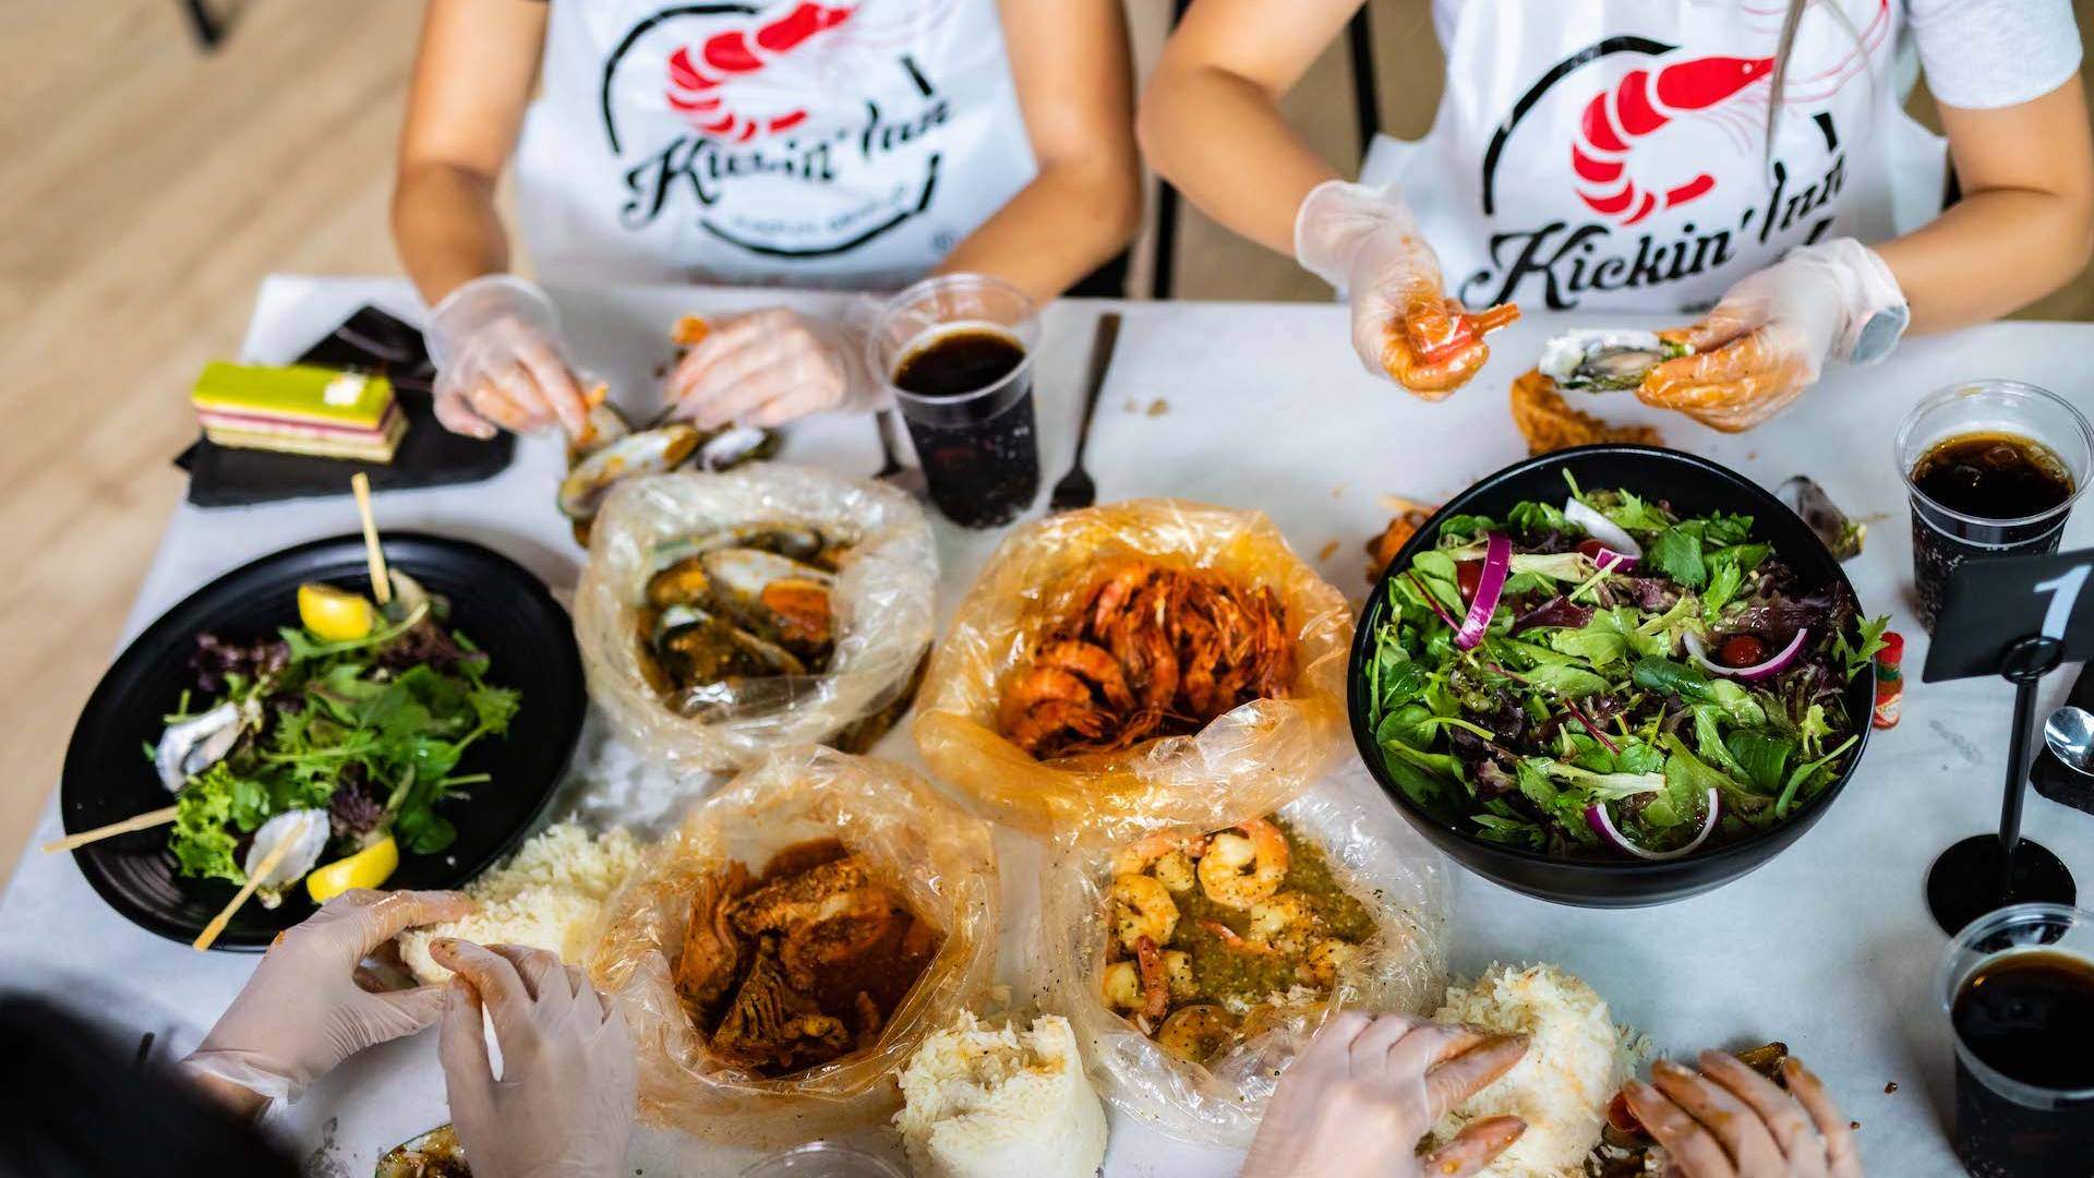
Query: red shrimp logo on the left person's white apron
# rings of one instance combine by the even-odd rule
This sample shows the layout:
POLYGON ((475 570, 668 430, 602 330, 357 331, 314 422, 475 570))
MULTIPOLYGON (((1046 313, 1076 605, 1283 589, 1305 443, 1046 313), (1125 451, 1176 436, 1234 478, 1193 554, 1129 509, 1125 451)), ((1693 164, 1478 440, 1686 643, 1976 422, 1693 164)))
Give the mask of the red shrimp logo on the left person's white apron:
POLYGON ((695 52, 691 46, 678 46, 668 54, 670 109, 681 113, 691 130, 722 143, 748 143, 758 134, 779 134, 804 124, 808 113, 802 105, 754 113, 739 109, 731 101, 735 84, 842 25, 854 10, 852 4, 802 0, 783 17, 716 31, 695 52))

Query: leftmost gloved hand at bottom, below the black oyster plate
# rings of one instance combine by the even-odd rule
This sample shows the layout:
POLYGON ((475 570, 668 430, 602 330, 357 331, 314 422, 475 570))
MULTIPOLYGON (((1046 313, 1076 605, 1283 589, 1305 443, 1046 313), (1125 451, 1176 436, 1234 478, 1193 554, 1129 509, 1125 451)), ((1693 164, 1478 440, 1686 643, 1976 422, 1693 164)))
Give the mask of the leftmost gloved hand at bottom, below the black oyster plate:
POLYGON ((404 929, 471 910, 454 891, 352 889, 329 899, 276 937, 182 1067, 260 1096, 297 1098, 352 1054, 436 1023, 444 987, 373 994, 356 983, 356 966, 404 929))

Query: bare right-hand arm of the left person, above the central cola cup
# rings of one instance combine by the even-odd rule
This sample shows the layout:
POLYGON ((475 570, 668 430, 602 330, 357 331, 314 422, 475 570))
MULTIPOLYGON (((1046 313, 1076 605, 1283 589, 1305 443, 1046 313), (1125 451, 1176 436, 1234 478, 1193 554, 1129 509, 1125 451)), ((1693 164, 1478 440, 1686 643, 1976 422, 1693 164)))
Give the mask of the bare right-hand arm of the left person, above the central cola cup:
POLYGON ((1001 0, 1003 44, 1039 174, 946 254, 1049 300, 1141 222, 1135 82, 1120 0, 1001 0))

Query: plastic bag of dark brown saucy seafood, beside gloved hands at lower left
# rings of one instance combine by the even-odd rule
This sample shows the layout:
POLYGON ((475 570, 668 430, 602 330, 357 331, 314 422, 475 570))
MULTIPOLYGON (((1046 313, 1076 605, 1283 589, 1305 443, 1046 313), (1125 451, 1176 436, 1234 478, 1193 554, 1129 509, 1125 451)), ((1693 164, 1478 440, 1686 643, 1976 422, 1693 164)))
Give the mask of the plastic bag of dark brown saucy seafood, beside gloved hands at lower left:
POLYGON ((900 765, 798 746, 649 851, 588 973, 632 1027, 641 1119, 771 1147, 890 1115, 995 945, 988 824, 900 765))

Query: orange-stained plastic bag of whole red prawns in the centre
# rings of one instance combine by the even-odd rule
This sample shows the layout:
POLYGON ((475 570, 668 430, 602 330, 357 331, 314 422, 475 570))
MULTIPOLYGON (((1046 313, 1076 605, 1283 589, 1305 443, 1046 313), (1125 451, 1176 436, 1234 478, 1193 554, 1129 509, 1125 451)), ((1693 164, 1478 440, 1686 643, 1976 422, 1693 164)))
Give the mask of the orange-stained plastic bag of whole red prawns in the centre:
POLYGON ((1344 597, 1258 511, 1064 511, 1011 532, 959 604, 915 740, 1032 832, 1217 826, 1288 801, 1336 750, 1351 637, 1344 597))

